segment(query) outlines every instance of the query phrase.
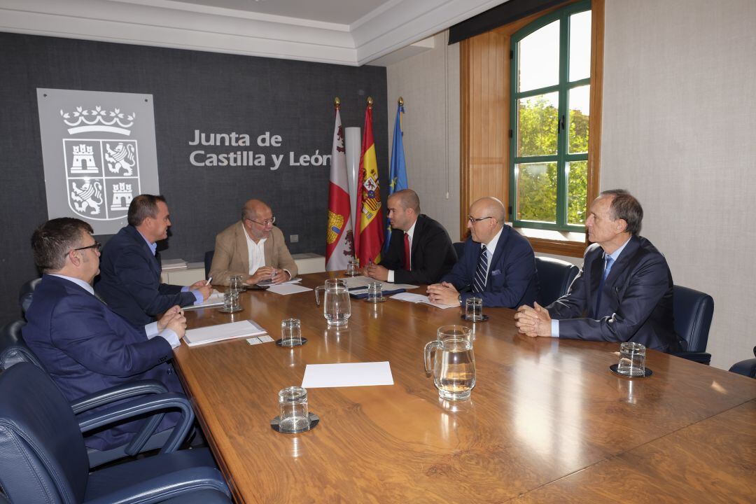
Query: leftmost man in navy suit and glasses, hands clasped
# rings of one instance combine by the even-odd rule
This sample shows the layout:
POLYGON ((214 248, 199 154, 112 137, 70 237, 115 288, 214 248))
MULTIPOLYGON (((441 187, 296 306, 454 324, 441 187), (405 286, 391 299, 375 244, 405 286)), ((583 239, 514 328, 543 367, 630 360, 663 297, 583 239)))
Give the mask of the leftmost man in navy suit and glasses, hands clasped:
MULTIPOLYGON (((167 362, 184 337, 186 319, 178 306, 159 321, 135 329, 95 297, 100 244, 92 228, 76 218, 56 218, 32 237, 34 262, 42 282, 23 327, 23 339, 68 400, 139 379, 156 379, 183 393, 167 362)), ((159 431, 175 425, 167 415, 159 431)), ((125 444, 142 421, 88 435, 85 444, 107 450, 125 444)))

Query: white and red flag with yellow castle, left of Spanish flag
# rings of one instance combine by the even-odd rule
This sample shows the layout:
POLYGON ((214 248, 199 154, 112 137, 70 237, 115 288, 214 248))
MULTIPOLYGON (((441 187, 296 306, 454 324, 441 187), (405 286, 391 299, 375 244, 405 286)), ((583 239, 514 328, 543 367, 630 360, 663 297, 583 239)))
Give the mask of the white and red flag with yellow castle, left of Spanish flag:
POLYGON ((352 258, 352 211, 349 208, 349 181, 346 177, 346 154, 341 114, 336 105, 333 128, 330 184, 328 184, 328 230, 326 233, 326 271, 345 270, 352 258))

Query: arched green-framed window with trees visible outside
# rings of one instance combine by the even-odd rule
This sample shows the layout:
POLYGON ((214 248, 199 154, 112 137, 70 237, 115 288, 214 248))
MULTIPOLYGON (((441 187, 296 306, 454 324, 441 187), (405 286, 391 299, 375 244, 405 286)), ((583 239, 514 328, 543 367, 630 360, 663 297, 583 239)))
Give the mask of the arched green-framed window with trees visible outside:
POLYGON ((512 37, 509 168, 515 227, 584 230, 590 42, 590 2, 553 11, 512 37))

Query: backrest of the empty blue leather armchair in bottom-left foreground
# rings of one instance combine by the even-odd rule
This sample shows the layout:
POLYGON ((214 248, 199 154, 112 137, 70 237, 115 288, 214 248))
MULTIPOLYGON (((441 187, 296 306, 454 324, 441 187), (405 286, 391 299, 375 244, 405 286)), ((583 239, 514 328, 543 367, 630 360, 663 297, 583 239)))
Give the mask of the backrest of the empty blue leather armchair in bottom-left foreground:
POLYGON ((47 374, 0 374, 0 486, 11 502, 82 502, 89 463, 79 424, 47 374))

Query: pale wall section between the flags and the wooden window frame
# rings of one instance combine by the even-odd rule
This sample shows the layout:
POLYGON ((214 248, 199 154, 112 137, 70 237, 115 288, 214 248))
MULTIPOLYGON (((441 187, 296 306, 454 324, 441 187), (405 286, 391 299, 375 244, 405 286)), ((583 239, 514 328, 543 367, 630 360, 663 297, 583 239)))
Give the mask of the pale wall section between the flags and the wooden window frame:
POLYGON ((460 238, 460 50, 446 44, 445 33, 434 44, 386 67, 389 145, 401 96, 407 183, 420 196, 423 213, 443 224, 454 242, 460 238))

